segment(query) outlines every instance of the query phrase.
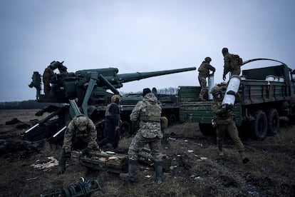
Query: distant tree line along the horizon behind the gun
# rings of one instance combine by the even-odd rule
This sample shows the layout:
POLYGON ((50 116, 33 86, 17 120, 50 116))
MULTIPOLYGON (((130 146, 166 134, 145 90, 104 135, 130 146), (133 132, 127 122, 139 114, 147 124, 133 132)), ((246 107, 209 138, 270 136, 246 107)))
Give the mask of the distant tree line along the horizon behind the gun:
MULTIPOLYGON (((157 94, 177 94, 177 88, 165 88, 165 89, 157 89, 157 94)), ((141 91, 131 92, 128 94, 140 94, 141 91)), ((126 93, 120 92, 120 94, 124 95, 126 93)), ((11 102, 0 102, 0 110, 1 109, 38 109, 43 108, 45 106, 49 106, 51 103, 38 103, 36 100, 28 100, 28 101, 11 101, 11 102)), ((57 105, 57 103, 54 103, 57 105)))

